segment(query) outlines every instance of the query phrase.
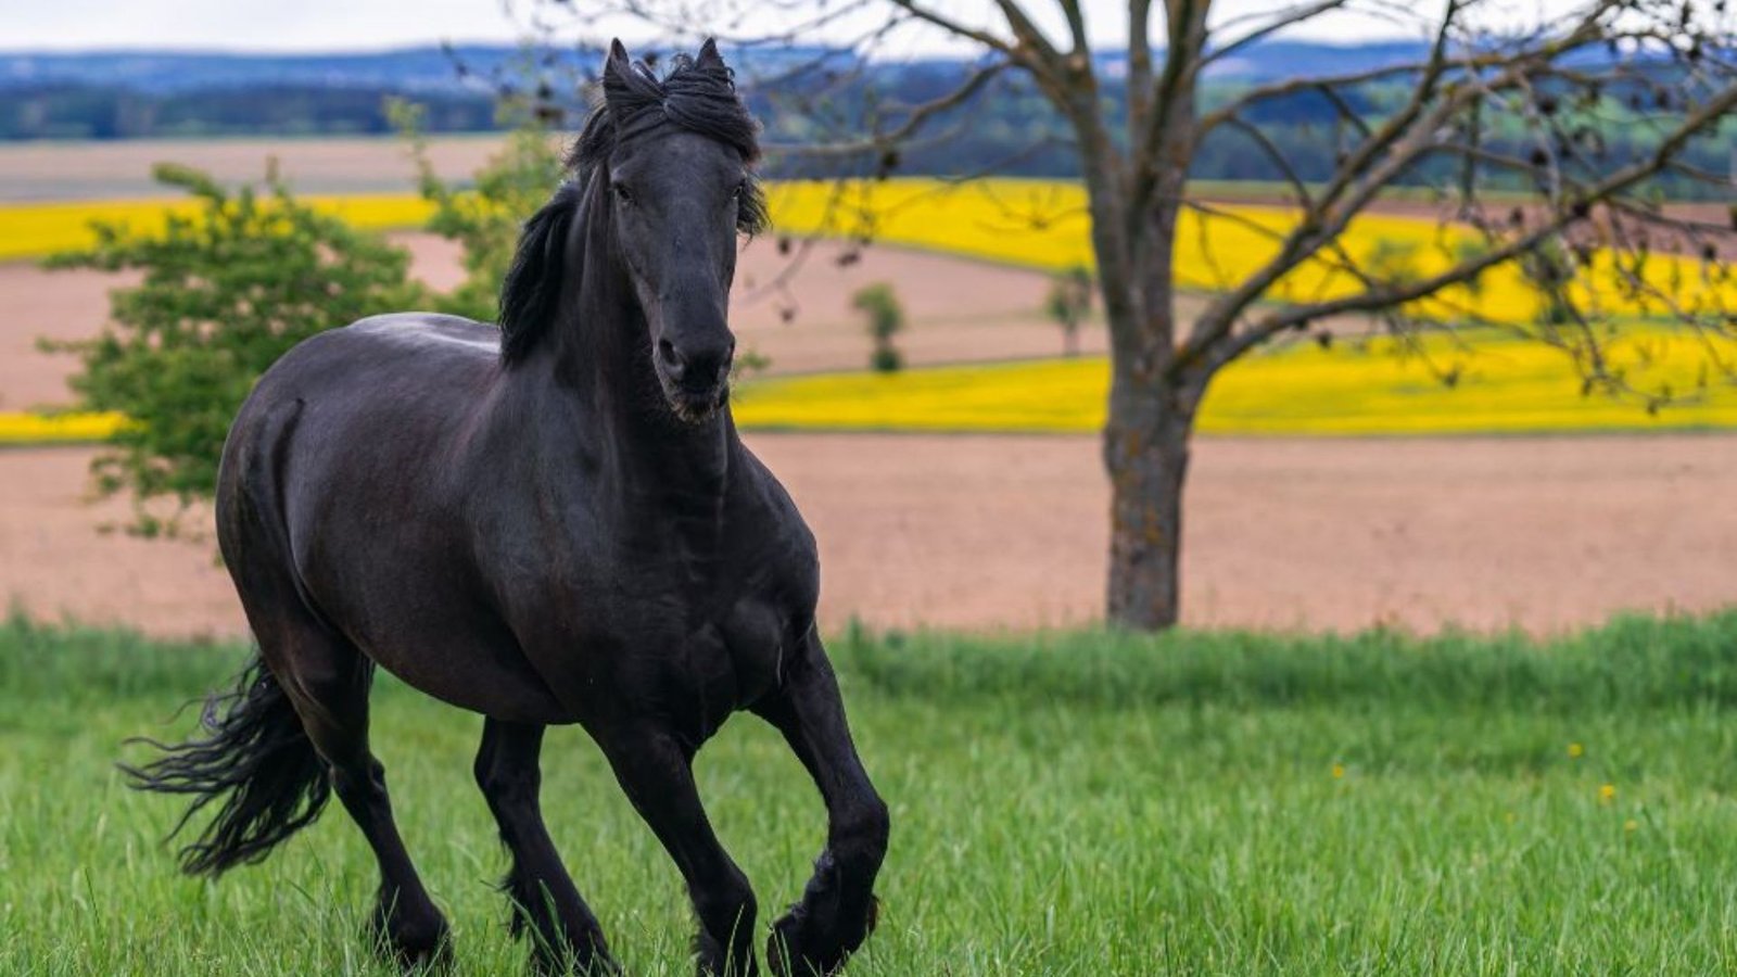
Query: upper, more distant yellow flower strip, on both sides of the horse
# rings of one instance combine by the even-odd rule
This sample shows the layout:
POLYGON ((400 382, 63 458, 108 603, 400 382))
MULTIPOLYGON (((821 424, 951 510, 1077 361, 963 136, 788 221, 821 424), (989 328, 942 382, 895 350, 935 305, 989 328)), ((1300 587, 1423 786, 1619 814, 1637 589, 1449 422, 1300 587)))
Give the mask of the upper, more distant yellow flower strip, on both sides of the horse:
MULTIPOLYGON (((935 179, 888 183, 780 183, 769 188, 773 223, 780 233, 872 235, 874 240, 962 254, 988 261, 1060 269, 1091 264, 1084 188, 1073 181, 987 179, 947 184, 935 179)), ((360 228, 420 226, 431 207, 415 195, 311 196, 360 228)), ((189 214, 186 202, 120 200, 82 203, 0 205, 0 261, 40 257, 89 243, 92 219, 125 221, 139 228, 162 226, 168 212, 189 214)), ((1294 216, 1282 207, 1226 207, 1235 217, 1204 219, 1185 214, 1176 235, 1176 276, 1183 287, 1221 290, 1242 280, 1275 250, 1275 233, 1294 216)), ((1412 273, 1428 275, 1457 261, 1476 236, 1463 228, 1398 216, 1365 216, 1341 238, 1358 263, 1381 249, 1407 252, 1412 273)), ((1608 256, 1591 275, 1598 299, 1614 315, 1659 315, 1655 304, 1615 294, 1608 256)), ((1685 308, 1737 308, 1737 282, 1709 280, 1701 263, 1654 256, 1645 278, 1685 308)), ((1277 301, 1308 301, 1346 294, 1358 283, 1324 259, 1311 263, 1270 294, 1277 301)), ((1454 289, 1421 302, 1423 315, 1459 318, 1475 313, 1499 322, 1529 322, 1539 297, 1515 268, 1489 271, 1476 290, 1454 289)))

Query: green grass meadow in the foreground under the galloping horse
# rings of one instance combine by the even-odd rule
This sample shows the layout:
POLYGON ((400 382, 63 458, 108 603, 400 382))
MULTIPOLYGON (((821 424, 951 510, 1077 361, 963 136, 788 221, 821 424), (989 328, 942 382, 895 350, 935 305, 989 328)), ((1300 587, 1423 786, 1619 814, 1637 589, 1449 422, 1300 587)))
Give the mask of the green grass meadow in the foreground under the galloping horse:
MULTIPOLYGON (((893 807, 858 975, 1718 974, 1737 967, 1737 612, 1548 643, 1101 633, 832 643, 893 807), (1570 756, 1570 744, 1582 744, 1570 756), (1341 775, 1336 775, 1341 774, 1341 775), (1602 788, 1614 796, 1602 798, 1602 788)), ((0 626, 0 974, 379 972, 335 805, 266 864, 174 874, 179 814, 125 791, 134 734, 243 648, 0 626)), ((405 834, 462 974, 519 972, 469 781, 479 721, 375 695, 405 834)), ((686 974, 681 883, 582 734, 545 807, 634 974, 686 974)), ((700 760, 763 923, 820 803, 763 725, 700 760)))

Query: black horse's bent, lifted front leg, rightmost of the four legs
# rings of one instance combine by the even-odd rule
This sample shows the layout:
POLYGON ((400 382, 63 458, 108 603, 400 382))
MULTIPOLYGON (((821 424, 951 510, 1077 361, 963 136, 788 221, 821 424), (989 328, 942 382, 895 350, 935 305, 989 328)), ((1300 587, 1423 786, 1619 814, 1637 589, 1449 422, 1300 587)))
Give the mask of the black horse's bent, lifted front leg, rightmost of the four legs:
POLYGON ((827 801, 827 850, 802 901, 773 927, 766 958, 778 974, 834 974, 875 923, 874 880, 886 857, 888 812, 875 794, 820 638, 809 629, 778 690, 754 706, 778 727, 827 801))

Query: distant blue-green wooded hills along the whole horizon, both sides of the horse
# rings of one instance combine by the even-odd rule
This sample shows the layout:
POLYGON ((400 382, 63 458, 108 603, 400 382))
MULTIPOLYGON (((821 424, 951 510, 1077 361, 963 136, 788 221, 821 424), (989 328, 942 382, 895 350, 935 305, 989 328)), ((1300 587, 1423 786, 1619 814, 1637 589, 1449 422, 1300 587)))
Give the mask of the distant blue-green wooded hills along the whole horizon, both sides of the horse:
MULTIPOLYGON (((768 144, 802 146, 820 141, 860 139, 865 132, 896 125, 900 106, 914 106, 940 97, 961 83, 969 68, 957 61, 915 64, 825 66, 815 71, 783 73, 773 83, 747 85, 756 115, 766 123, 768 144)), ((1249 83, 1245 78, 1211 82, 1204 90, 1207 106, 1235 97, 1249 83)), ((500 125, 502 90, 533 97, 537 92, 570 92, 573 78, 533 82, 483 90, 417 90, 410 101, 424 110, 426 132, 479 132, 500 125)), ((1369 85, 1344 92, 1343 106, 1367 118, 1379 118, 1400 104, 1409 89, 1397 83, 1369 85)), ((196 87, 186 90, 139 90, 113 83, 40 83, 12 87, 0 99, 0 139, 142 139, 208 136, 370 136, 394 130, 387 111, 391 97, 405 97, 391 85, 320 85, 309 82, 196 87)), ((509 96, 511 97, 511 96, 509 96)), ((1108 80, 1103 90, 1105 111, 1113 118, 1122 111, 1124 89, 1108 80)), ((571 96, 554 97, 565 111, 547 113, 554 125, 575 129, 582 104, 571 96)), ((1268 150, 1285 156, 1291 172, 1304 181, 1325 181, 1337 167, 1355 130, 1344 120, 1341 104, 1318 92, 1299 92, 1287 99, 1263 103, 1244 118, 1261 129, 1268 146, 1259 146, 1245 132, 1221 129, 1197 151, 1192 176, 1214 181, 1280 181, 1282 167, 1268 150)), ((1652 90, 1607 92, 1595 111, 1588 111, 1596 129, 1602 165, 1622 165, 1654 148, 1650 118, 1669 116, 1680 106, 1659 104, 1652 90)), ((505 113, 512 116, 512 113, 505 113)), ((523 113, 518 113, 523 118, 523 113)), ((1683 162, 1713 174, 1730 172, 1737 123, 1727 123, 1692 143, 1683 162)), ((896 153, 865 153, 855 158, 811 158, 799 153, 773 153, 771 176, 818 177, 856 172, 875 176, 964 176, 994 172, 1006 176, 1075 177, 1079 156, 1070 134, 1047 99, 1030 82, 1004 76, 974 99, 935 118, 919 139, 896 153)), ((1492 125, 1489 150, 1525 156, 1536 150, 1530 136, 1504 134, 1492 125)), ((1461 172, 1459 160, 1428 160, 1400 183, 1438 184, 1475 179, 1478 186, 1525 189, 1525 176, 1511 172, 1461 172)), ((1671 196, 1707 196, 1716 188, 1685 179, 1657 181, 1671 196)))

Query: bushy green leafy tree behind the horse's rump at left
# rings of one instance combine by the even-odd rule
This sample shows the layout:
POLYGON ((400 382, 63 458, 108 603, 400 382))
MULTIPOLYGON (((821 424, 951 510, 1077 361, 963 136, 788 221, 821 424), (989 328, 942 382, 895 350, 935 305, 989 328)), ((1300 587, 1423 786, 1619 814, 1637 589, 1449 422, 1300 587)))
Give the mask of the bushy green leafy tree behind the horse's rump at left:
POLYGON ((94 462, 102 495, 134 499, 132 530, 170 532, 217 485, 229 421, 278 356, 325 329, 422 304, 410 256, 292 196, 267 170, 264 193, 228 191, 208 176, 158 165, 156 181, 198 210, 162 233, 97 223, 97 242, 49 257, 49 268, 137 269, 113 292, 111 322, 89 341, 47 344, 80 356, 82 409, 129 422, 94 462), (163 516, 149 502, 174 499, 163 516))

